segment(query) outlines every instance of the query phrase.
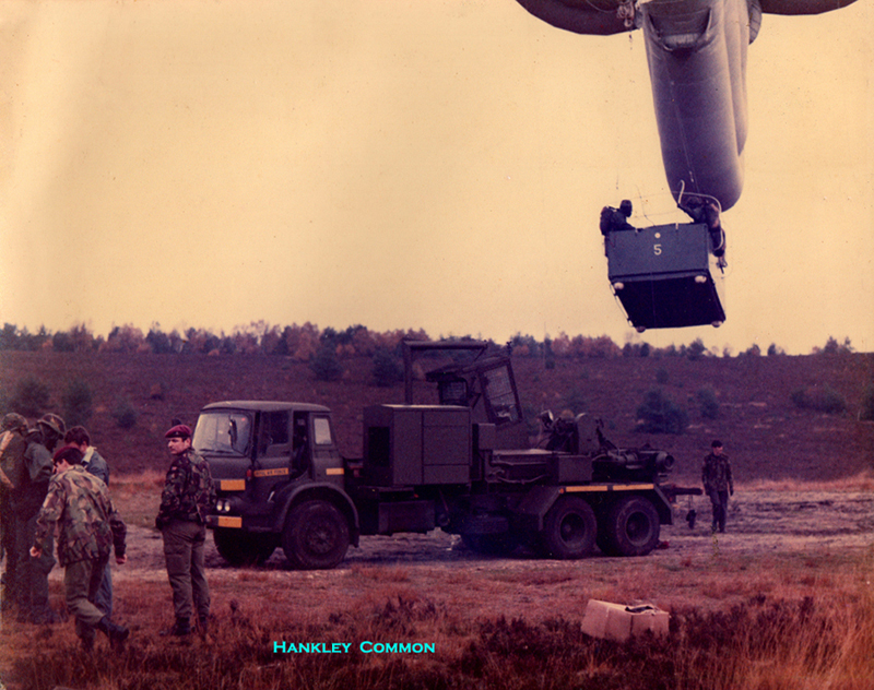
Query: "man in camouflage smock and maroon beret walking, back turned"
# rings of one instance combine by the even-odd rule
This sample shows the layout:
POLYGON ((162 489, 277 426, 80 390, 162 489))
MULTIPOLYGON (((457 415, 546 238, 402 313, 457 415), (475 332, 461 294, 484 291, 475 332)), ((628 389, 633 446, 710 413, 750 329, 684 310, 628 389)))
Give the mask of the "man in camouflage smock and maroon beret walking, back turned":
POLYGON ((106 485, 82 466, 82 453, 64 445, 52 457, 55 475, 36 520, 36 533, 29 555, 34 559, 51 548, 51 535, 58 531, 58 560, 64 567, 63 586, 67 608, 75 616, 75 633, 82 646, 94 649, 95 630, 109 638, 118 649, 128 639, 127 628, 111 622, 94 605, 110 547, 116 562, 127 562, 127 528, 116 512, 106 485))

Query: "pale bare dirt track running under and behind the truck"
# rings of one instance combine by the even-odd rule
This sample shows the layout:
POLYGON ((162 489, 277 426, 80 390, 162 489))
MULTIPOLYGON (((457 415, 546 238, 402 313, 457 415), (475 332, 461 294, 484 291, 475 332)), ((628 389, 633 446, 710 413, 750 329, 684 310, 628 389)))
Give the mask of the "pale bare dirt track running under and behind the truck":
MULTIPOLYGON (((458 536, 435 530, 425 535, 399 534, 392 537, 362 537, 359 547, 350 547, 346 559, 333 571, 320 573, 328 580, 349 573, 352 569, 403 566, 408 571, 418 569, 469 569, 487 567, 518 572, 542 572, 554 568, 579 568, 586 563, 609 561, 612 569, 640 566, 641 560, 656 559, 663 567, 680 567, 690 560, 727 557, 786 556, 842 552, 874 546, 874 493, 861 490, 744 490, 739 489, 730 501, 725 534, 711 535, 710 504, 706 498, 693 501, 682 498, 675 508, 674 524, 662 526, 661 548, 643 559, 606 558, 600 554, 568 563, 543 560, 518 550, 510 558, 486 557, 466 549, 458 536), (694 528, 686 521, 694 508, 697 520, 694 528)), ((129 562, 116 570, 119 583, 126 580, 164 579, 164 559, 160 534, 151 528, 130 525, 128 536, 129 562)), ((225 564, 209 538, 206 562, 213 580, 236 579, 239 569, 225 564)), ((276 549, 260 571, 285 571, 285 559, 276 549)), ((56 571, 52 573, 58 576, 56 571)), ((297 573, 312 575, 312 573, 297 573)), ((425 574, 424 572, 422 573, 425 574)), ((119 584, 119 586, 123 586, 119 584)))

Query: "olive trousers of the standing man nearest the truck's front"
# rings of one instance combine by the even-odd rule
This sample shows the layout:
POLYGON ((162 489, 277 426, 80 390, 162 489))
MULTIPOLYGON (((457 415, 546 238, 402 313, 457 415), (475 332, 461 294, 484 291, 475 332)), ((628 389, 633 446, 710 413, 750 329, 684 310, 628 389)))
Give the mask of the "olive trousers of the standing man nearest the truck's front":
POLYGON ((210 615, 210 586, 203 564, 206 527, 173 520, 162 534, 176 618, 190 619, 196 611, 198 619, 205 620, 210 615))

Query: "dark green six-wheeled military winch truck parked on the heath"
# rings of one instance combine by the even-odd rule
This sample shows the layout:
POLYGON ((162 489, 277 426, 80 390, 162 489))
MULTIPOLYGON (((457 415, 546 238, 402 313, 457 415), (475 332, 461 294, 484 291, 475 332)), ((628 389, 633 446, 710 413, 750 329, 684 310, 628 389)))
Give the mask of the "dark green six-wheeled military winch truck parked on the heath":
POLYGON ((361 459, 341 455, 321 405, 203 407, 193 445, 216 480, 208 526, 225 560, 257 563, 282 547, 294 568, 327 569, 363 536, 436 527, 482 552, 525 546, 577 559, 597 546, 642 556, 672 523, 676 495, 695 491, 664 484, 669 453, 616 448, 588 415, 542 413, 528 447, 508 349, 405 342, 403 350, 404 404, 364 409, 361 459), (414 403, 414 365, 437 350, 453 358, 425 373, 436 400, 414 403))

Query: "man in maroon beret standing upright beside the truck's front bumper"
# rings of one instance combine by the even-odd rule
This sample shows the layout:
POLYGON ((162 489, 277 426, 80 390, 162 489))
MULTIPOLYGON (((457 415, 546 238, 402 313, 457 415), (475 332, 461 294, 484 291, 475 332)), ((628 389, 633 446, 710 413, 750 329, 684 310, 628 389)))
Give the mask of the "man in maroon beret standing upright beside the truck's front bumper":
POLYGON ((190 427, 176 425, 164 437, 173 462, 161 495, 155 526, 164 537, 176 622, 162 634, 182 637, 191 634, 192 599, 201 632, 206 631, 209 621, 210 587, 203 556, 206 514, 215 505, 215 487, 210 465, 191 448, 190 427))

